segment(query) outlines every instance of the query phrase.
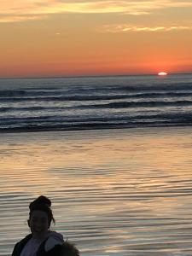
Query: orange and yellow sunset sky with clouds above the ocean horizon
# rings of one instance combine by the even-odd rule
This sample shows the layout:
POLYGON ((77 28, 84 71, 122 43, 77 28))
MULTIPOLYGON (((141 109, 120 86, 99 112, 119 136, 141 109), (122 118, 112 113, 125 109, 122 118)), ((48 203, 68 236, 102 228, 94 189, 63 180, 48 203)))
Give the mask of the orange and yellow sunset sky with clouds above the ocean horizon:
POLYGON ((192 0, 0 0, 0 78, 192 73, 192 0))

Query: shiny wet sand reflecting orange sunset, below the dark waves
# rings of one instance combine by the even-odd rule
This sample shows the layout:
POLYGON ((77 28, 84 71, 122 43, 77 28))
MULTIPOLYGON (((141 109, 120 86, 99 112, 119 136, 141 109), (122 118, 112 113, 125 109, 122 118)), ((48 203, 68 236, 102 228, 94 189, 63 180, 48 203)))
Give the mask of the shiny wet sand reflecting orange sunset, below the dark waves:
POLYGON ((0 255, 25 236, 28 204, 53 201, 81 255, 191 255, 192 128, 0 135, 0 255))

